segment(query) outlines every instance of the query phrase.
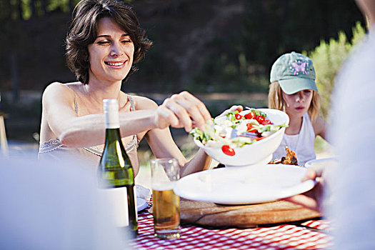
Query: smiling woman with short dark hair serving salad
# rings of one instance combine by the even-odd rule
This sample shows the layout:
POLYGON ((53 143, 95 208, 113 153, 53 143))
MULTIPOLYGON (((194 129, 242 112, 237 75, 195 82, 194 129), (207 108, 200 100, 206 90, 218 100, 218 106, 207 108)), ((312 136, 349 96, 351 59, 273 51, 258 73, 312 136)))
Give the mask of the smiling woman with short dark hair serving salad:
POLYGON ((190 131, 211 115, 186 91, 158 106, 142 96, 121 91, 151 46, 134 11, 116 0, 83 0, 74 9, 66 36, 66 61, 78 81, 47 86, 42 98, 39 158, 77 156, 98 166, 104 144, 103 99, 119 102, 120 131, 134 173, 139 172, 137 146, 144 137, 157 158, 176 158, 181 175, 200 171, 211 159, 199 151, 186 161, 169 126, 190 131), (194 123, 193 123, 194 121, 194 123))

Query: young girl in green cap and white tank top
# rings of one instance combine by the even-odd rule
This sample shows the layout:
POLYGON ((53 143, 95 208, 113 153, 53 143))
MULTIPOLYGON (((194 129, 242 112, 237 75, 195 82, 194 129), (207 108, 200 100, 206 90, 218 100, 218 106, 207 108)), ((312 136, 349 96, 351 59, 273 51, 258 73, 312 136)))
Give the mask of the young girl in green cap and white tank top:
POLYGON ((283 140, 274 159, 286 155, 285 146, 296 152, 298 163, 315 159, 316 136, 326 139, 326 121, 318 116, 320 100, 315 84, 315 69, 309 57, 291 52, 274 62, 271 68, 269 108, 289 116, 283 140))

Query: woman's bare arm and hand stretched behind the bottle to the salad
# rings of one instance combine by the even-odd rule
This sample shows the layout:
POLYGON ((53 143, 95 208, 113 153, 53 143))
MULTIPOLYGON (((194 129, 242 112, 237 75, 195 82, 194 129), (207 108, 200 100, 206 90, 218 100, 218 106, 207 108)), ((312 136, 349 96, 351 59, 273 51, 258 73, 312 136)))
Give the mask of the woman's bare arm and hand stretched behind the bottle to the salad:
MULTIPOLYGON (((49 85, 42 102, 45 119, 63 144, 71 147, 103 144, 104 114, 77 116, 74 93, 69 88, 59 83, 49 85)), ((136 111, 120 113, 120 132, 121 136, 126 137, 151 129, 166 129, 168 126, 190 131, 193 121, 201 127, 209 120, 211 115, 206 106, 186 91, 167 98, 161 106, 139 97, 136 111)), ((48 139, 41 138, 41 141, 48 139)))

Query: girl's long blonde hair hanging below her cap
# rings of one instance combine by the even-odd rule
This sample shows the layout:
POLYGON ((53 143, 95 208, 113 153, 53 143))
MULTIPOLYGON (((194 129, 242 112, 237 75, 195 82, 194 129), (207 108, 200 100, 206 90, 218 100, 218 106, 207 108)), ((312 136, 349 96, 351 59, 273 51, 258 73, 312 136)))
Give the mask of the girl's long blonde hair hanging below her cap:
MULTIPOLYGON (((269 86, 269 109, 279 109, 285 111, 285 101, 283 99, 283 90, 279 81, 274 81, 269 86)), ((320 96, 319 93, 313 91, 313 97, 309 106, 309 113, 311 121, 314 121, 320 112, 320 96)))

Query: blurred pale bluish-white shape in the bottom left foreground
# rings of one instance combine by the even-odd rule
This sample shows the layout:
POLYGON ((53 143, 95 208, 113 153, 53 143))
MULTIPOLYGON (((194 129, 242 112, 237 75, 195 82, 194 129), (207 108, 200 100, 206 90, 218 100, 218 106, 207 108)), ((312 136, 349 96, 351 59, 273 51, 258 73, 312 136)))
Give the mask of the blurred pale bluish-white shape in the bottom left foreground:
POLYGON ((84 162, 34 153, 0 162, 0 249, 129 249, 84 162))

